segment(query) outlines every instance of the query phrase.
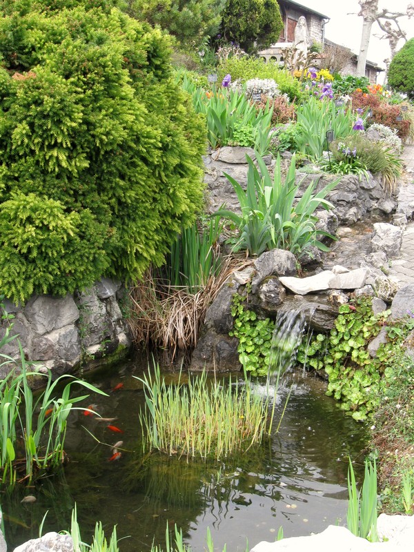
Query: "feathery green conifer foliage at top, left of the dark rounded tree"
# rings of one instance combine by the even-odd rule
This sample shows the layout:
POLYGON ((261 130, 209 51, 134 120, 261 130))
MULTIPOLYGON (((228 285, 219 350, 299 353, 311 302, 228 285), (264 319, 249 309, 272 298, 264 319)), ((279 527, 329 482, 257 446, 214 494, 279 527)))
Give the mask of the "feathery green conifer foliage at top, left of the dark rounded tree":
POLYGON ((225 0, 132 0, 126 12, 139 21, 159 25, 177 38, 181 47, 201 46, 217 34, 225 0))

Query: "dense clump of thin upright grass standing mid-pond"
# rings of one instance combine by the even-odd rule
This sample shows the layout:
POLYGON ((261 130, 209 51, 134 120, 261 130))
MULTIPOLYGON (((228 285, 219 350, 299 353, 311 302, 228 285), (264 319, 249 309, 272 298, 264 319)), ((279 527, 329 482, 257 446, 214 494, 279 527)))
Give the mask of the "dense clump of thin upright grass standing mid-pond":
POLYGON ((138 378, 146 408, 139 420, 144 448, 179 457, 223 459, 259 444, 267 433, 270 397, 229 377, 209 382, 206 372, 166 385, 159 366, 138 378))

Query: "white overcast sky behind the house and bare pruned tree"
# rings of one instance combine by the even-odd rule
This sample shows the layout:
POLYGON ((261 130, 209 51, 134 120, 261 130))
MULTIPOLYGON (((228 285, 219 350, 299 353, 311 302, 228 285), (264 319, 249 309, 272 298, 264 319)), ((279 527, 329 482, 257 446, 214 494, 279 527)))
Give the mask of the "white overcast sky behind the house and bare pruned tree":
MULTIPOLYGON (((326 38, 343 44, 351 48, 353 52, 359 51, 362 32, 362 17, 358 17, 359 4, 357 0, 295 0, 308 8, 330 17, 325 27, 326 38), (351 14, 351 15, 350 15, 351 14)), ((387 8, 390 12, 406 12, 410 1, 413 0, 380 0, 379 7, 387 8)), ((407 33, 407 39, 414 37, 414 17, 400 19, 400 26, 407 33)), ((371 31, 371 41, 368 49, 369 61, 374 61, 379 66, 384 67, 383 60, 389 57, 388 41, 377 39, 374 34, 384 34, 377 26, 373 24, 371 31)), ((404 41, 400 41, 398 48, 404 46, 404 41)), ((380 78, 378 79, 381 80, 380 78)))

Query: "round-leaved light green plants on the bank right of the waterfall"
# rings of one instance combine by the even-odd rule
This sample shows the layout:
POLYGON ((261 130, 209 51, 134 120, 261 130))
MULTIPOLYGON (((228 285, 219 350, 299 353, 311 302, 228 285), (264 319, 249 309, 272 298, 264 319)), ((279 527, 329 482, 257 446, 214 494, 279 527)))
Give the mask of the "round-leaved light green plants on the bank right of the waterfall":
POLYGON ((302 343, 297 359, 328 375, 328 395, 340 401, 342 410, 355 420, 366 420, 380 405, 384 389, 398 368, 395 348, 400 348, 414 328, 414 319, 387 322, 389 311, 374 315, 371 300, 357 299, 355 306, 339 307, 339 316, 329 335, 318 333, 302 343), (368 353, 368 343, 386 326, 387 340, 377 356, 368 353))

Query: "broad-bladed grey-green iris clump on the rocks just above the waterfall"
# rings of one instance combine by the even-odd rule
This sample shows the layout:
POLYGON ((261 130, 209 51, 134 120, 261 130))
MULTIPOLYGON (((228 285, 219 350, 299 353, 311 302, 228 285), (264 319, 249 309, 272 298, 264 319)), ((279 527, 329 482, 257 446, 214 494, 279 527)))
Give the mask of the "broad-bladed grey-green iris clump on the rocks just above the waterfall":
POLYGON ((327 210, 332 207, 325 197, 335 188, 337 181, 332 181, 315 193, 319 181, 319 177, 316 177, 297 200, 302 181, 299 184, 295 182, 295 156, 285 179, 282 178, 279 156, 273 178, 270 177, 262 157, 256 155, 259 168, 248 155, 246 159, 246 190, 237 180, 225 173, 237 193, 242 214, 227 209, 219 209, 214 213, 229 219, 237 226, 240 236, 236 239, 233 249, 246 249, 249 255, 260 255, 268 249, 286 249, 299 259, 312 247, 328 251, 329 248, 319 241, 319 236, 335 238, 322 230, 317 230, 317 217, 313 213, 320 207, 327 210))

